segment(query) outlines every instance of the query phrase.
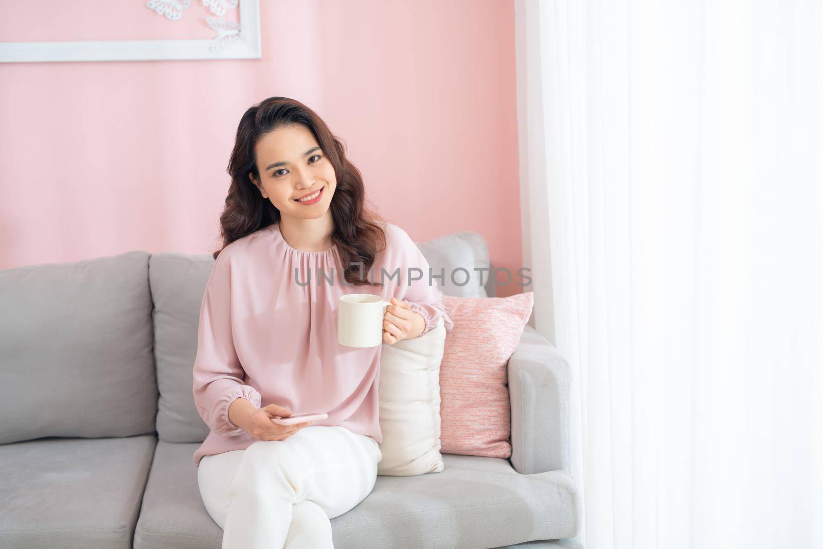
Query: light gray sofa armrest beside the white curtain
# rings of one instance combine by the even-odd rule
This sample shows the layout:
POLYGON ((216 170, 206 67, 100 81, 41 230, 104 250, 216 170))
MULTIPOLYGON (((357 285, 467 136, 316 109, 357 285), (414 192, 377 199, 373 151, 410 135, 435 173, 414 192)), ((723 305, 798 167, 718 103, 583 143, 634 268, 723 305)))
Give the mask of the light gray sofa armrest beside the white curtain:
POLYGON ((526 325, 509 358, 511 463, 523 475, 570 468, 570 368, 526 325))

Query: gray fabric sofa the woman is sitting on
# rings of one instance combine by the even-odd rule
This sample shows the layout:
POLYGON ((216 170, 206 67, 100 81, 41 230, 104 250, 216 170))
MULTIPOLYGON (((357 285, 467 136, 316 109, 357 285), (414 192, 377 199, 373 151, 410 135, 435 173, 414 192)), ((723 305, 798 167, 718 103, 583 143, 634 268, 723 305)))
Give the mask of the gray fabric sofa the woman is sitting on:
MULTIPOLYGON (((490 267, 481 235, 417 245, 446 294, 494 295, 473 270, 490 267), (457 267, 470 283, 449 280, 457 267)), ((212 263, 133 251, 0 271, 0 547, 221 547, 192 459, 212 263)), ((569 367, 527 326, 508 375, 510 459, 444 454, 443 472, 380 476, 332 519, 334 546, 580 547, 565 539, 579 529, 569 367)))

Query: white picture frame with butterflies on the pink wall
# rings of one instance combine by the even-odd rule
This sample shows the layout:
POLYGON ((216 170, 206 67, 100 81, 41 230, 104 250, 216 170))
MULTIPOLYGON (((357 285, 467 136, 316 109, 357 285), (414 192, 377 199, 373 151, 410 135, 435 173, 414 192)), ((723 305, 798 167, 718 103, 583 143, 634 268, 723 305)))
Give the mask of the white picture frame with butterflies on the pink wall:
MULTIPOLYGON (((238 7, 239 39, 223 49, 212 48, 216 39, 0 42, 0 63, 259 59, 262 57, 260 0, 239 0, 238 7)), ((219 38, 217 33, 216 38, 219 38)))

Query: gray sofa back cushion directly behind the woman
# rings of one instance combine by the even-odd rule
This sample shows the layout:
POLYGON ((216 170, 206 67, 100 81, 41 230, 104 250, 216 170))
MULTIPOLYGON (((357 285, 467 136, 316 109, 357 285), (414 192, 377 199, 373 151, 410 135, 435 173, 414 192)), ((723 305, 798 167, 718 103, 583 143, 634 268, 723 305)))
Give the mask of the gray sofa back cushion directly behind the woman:
MULTIPOLYGON (((415 243, 429 263, 432 273, 445 272, 440 285, 445 295, 486 297, 480 273, 473 268, 489 268, 486 241, 472 231, 462 231, 415 243), (462 267, 472 279, 465 286, 449 281, 454 268, 462 267)), ((212 272, 211 254, 154 254, 149 260, 149 286, 154 300, 155 361, 160 401, 157 435, 166 442, 202 442, 208 426, 194 405, 192 369, 198 351, 200 305, 212 272)), ((426 273, 427 276, 427 273, 426 273)), ((463 275, 455 276, 463 282, 463 275)), ((486 275, 483 281, 486 281, 486 275)), ((436 279, 438 284, 440 279, 436 279)), ((265 406, 267 402, 263 402, 265 406)))

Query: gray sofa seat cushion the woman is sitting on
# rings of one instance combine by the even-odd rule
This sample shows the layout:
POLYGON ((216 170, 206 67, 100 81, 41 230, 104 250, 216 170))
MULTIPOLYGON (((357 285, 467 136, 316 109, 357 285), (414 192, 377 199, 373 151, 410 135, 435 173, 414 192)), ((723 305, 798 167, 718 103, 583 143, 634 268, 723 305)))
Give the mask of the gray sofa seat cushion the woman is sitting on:
MULTIPOLYGON (((191 463, 197 447, 157 444, 134 547, 221 547, 223 531, 202 504, 191 463)), ((501 547, 577 532, 565 472, 521 475, 504 458, 443 460, 442 472, 377 477, 365 500, 332 519, 335 549, 501 547)))

